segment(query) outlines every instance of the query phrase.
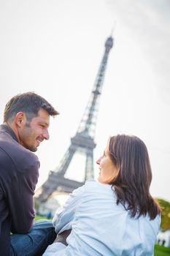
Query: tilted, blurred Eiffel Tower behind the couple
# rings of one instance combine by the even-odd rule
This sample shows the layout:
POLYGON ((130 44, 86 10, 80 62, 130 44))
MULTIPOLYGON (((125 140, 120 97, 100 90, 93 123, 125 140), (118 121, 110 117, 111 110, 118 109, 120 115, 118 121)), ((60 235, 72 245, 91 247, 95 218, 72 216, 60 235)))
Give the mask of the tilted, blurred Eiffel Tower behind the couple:
POLYGON ((82 186, 88 178, 93 178, 93 149, 96 147, 94 142, 94 135, 96 129, 96 118, 98 113, 98 100, 101 95, 101 89, 104 83, 104 74, 107 67, 107 59, 109 56, 109 50, 113 46, 112 35, 107 38, 105 42, 104 56, 101 60, 101 65, 98 69, 98 74, 93 86, 93 90, 90 94, 88 105, 80 121, 80 125, 77 129, 76 135, 71 138, 71 144, 64 154, 63 159, 59 163, 58 167, 50 171, 47 181, 40 187, 39 202, 45 202, 53 192, 66 192, 70 193, 74 189, 82 186), (65 178, 66 171, 72 161, 72 158, 76 152, 85 154, 85 177, 84 181, 74 181, 69 178, 65 178))

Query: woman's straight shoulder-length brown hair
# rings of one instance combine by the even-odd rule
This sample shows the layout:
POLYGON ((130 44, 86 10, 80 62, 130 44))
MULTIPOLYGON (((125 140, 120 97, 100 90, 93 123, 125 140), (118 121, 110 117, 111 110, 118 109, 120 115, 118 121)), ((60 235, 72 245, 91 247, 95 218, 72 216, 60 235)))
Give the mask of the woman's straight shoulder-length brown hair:
POLYGON ((123 204, 131 217, 149 214, 155 219, 161 207, 150 195, 152 170, 144 142, 136 136, 113 136, 109 138, 109 155, 118 170, 112 181, 117 204, 123 204))

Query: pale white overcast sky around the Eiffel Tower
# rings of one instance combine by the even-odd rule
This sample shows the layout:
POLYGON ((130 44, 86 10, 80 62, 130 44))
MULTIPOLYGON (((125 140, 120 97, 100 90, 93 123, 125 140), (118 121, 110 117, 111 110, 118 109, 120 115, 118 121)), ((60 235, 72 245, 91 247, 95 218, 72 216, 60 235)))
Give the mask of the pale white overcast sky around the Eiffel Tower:
POLYGON ((6 102, 25 91, 61 113, 36 151, 39 187, 77 131, 115 20, 94 158, 110 135, 139 136, 150 154, 151 194, 170 200, 169 0, 0 0, 0 121, 6 102))

